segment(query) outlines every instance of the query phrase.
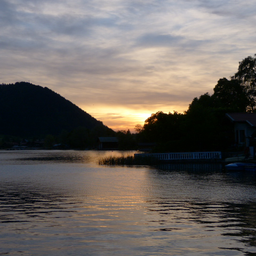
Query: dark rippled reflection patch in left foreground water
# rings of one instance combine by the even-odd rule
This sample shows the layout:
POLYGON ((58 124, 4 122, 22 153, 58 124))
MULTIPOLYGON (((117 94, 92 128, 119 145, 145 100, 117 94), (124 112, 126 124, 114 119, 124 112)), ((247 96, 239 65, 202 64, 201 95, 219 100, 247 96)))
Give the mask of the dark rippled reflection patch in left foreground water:
MULTIPOLYGON (((30 222, 31 218, 74 212, 69 196, 47 188, 0 183, 0 222, 30 222)), ((59 217, 60 218, 60 217, 59 217)), ((33 220, 35 221, 35 220, 33 220)))

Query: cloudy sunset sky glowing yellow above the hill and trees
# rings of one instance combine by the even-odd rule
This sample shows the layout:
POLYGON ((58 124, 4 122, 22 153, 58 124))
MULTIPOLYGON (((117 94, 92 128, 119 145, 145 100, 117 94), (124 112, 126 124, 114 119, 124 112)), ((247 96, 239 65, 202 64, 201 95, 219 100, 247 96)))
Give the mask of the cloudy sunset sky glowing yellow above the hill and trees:
POLYGON ((256 53, 255 13, 254 0, 0 0, 0 83, 133 131, 234 75, 256 53))

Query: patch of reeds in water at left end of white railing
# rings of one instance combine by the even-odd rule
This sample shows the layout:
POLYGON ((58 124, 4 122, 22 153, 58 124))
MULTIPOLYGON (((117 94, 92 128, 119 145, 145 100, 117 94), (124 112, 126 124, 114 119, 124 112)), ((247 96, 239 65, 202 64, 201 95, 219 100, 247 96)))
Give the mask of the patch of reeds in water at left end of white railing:
POLYGON ((153 156, 108 156, 99 160, 100 165, 156 165, 159 160, 153 156))

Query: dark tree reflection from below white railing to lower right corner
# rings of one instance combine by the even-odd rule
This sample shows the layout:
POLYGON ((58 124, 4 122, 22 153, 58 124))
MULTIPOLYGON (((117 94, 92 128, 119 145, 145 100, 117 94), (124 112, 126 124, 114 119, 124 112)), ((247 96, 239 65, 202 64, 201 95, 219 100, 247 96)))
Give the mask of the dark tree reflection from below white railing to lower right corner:
POLYGON ((256 173, 226 172, 219 164, 165 164, 149 173, 158 199, 148 201, 148 211, 158 213, 158 231, 196 223, 199 233, 230 241, 222 249, 256 255, 256 173))

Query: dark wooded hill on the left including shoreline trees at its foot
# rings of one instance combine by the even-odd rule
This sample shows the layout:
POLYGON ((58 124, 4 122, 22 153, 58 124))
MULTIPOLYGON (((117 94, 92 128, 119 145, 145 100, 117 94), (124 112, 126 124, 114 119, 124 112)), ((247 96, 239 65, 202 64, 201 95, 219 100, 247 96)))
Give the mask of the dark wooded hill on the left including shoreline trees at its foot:
POLYGON ((93 148, 115 132, 47 87, 0 84, 0 148, 12 145, 93 148))

